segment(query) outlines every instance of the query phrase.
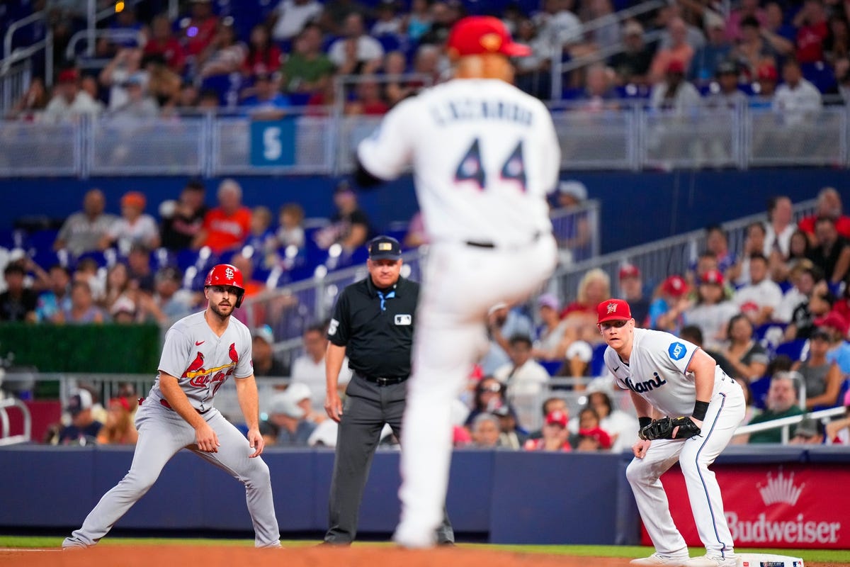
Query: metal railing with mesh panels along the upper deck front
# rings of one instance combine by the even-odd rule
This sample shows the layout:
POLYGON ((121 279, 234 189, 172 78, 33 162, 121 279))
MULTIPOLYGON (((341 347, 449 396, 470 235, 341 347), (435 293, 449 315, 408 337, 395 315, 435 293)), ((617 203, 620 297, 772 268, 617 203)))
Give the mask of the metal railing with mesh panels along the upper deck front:
MULTIPOLYGON (((565 170, 670 170, 700 167, 850 165, 850 106, 828 106, 796 122, 794 116, 751 109, 694 108, 682 116, 622 100, 605 111, 581 103, 558 104, 553 122, 565 170)), ((325 107, 286 110, 294 136, 289 162, 257 162, 263 137, 257 129, 276 122, 252 120, 251 109, 197 112, 131 119, 66 116, 61 134, 34 122, 0 122, 0 176, 162 175, 216 177, 231 174, 348 172, 361 139, 377 125, 374 116, 343 116, 325 107), (26 135, 17 135, 23 133, 26 135), (49 137, 65 148, 88 148, 57 165, 49 153, 32 150, 31 139, 49 137), (57 138, 57 136, 59 136, 57 138), (163 150, 167 149, 167 150, 163 150), (253 152, 252 152, 253 150, 253 152)), ((283 130, 281 129, 281 132, 283 130)), ((260 132, 262 134, 262 132, 260 132)))

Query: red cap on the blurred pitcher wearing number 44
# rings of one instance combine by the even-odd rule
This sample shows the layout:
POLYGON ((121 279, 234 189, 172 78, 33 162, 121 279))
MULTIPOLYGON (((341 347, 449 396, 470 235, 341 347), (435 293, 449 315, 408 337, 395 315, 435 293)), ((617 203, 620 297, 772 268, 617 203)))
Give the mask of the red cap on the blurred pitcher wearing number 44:
POLYGON ((451 28, 446 43, 449 53, 456 57, 465 55, 502 54, 508 57, 526 57, 531 48, 514 43, 501 20, 492 16, 470 16, 451 28))

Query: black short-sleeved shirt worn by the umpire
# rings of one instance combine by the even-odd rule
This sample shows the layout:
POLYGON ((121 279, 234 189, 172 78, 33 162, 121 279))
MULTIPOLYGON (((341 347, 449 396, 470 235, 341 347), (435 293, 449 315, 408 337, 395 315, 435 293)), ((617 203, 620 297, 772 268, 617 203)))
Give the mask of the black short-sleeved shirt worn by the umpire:
POLYGON ((408 377, 418 299, 416 281, 399 277, 394 286, 380 290, 366 276, 337 299, 328 340, 346 348, 348 366, 360 376, 408 377))

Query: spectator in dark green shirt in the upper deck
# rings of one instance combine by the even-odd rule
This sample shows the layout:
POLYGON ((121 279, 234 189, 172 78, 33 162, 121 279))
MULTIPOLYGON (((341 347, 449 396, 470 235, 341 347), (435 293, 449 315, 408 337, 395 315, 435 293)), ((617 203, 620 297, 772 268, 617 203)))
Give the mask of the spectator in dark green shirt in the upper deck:
POLYGON ((334 65, 321 51, 321 28, 308 24, 281 67, 280 84, 288 93, 314 94, 331 84, 334 65))

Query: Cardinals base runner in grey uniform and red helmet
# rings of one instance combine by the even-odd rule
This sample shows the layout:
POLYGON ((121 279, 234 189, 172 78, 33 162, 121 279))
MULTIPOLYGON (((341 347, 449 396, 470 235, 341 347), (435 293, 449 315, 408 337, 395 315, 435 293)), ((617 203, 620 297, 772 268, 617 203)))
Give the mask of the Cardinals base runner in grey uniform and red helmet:
POLYGON ((165 337, 159 374, 136 414, 139 441, 130 471, 100 499, 63 548, 91 547, 105 536, 183 448, 240 480, 246 489, 256 547, 280 547, 269 467, 260 455, 257 383, 251 333, 231 318, 245 287, 239 269, 213 266, 204 282, 207 309, 178 320, 165 337), (247 439, 212 406, 218 388, 233 376, 248 425, 247 439))

